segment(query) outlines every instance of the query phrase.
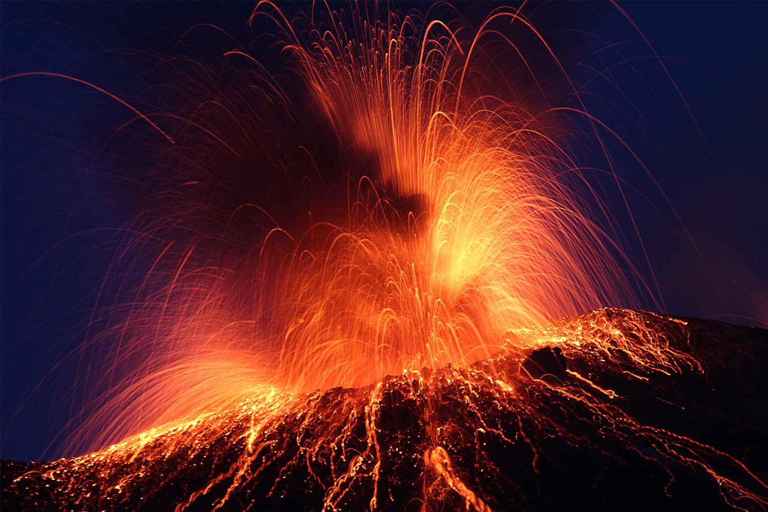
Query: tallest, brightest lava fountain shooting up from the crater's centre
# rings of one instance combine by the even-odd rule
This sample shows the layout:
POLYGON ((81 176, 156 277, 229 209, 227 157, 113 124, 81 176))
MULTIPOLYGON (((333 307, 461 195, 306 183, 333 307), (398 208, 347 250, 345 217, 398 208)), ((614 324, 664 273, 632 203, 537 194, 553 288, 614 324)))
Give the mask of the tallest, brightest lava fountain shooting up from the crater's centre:
POLYGON ((363 24, 349 40, 337 26, 286 48, 310 103, 372 167, 284 271, 270 335, 292 387, 466 365, 510 326, 594 308, 624 284, 559 176, 561 148, 521 105, 462 96, 476 40, 462 50, 441 23, 407 27, 363 24))

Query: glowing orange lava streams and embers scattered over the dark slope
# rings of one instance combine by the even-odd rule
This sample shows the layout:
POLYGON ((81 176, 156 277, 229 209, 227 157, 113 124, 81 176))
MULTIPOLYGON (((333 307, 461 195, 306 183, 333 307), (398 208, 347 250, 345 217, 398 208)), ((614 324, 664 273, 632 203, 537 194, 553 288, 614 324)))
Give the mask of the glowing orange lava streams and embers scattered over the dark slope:
MULTIPOLYGON (((488 490, 478 487, 474 479, 467 480, 472 474, 467 461, 462 467, 455 454, 462 445, 476 444, 482 457, 474 462, 475 469, 491 471, 491 480, 486 481, 492 482, 498 468, 484 462, 493 455, 483 454, 485 441, 497 447, 525 446, 526 462, 518 467, 524 470, 530 465, 532 477, 539 475, 539 456, 553 456, 541 451, 542 441, 558 438, 591 453, 595 441, 586 433, 591 432, 609 439, 604 446, 611 450, 636 454, 638 464, 704 472, 730 506, 763 510, 768 505, 763 497, 768 484, 762 475, 715 447, 638 421, 623 408, 637 397, 622 396, 621 391, 588 378, 590 370, 599 374, 592 378, 624 374, 626 381, 641 383, 658 380, 660 374, 670 377, 670 382, 699 378, 703 368, 696 357, 680 351, 690 342, 688 328, 680 319, 610 308, 521 327, 505 334, 506 344, 495 357, 469 367, 412 371, 354 390, 253 391, 236 403, 207 407, 92 454, 42 463, 16 477, 8 490, 32 489, 28 493, 34 497, 45 484, 52 490, 41 493, 43 503, 88 506, 98 500, 100 506, 111 504, 122 510, 136 503, 138 496, 154 499, 157 493, 157 499, 163 499, 164 486, 174 487, 177 479, 192 487, 172 495, 175 510, 209 510, 206 504, 217 510, 242 503, 230 503, 233 496, 266 499, 247 494, 246 489, 259 484, 266 484, 262 487, 266 490, 271 487, 271 494, 284 488, 284 479, 289 486, 301 483, 292 475, 296 471, 310 475, 311 481, 304 483, 307 489, 323 488, 322 510, 350 510, 350 497, 351 503, 368 504, 367 510, 381 510, 392 500, 386 491, 379 491, 379 485, 392 489, 400 480, 396 471, 412 470, 416 463, 422 490, 415 499, 422 503, 421 510, 440 510, 458 497, 466 510, 489 512, 495 509, 485 500, 488 490), (517 371, 531 348, 552 345, 561 347, 570 361, 578 361, 567 371, 570 380, 531 379, 517 371), (409 401, 410 407, 423 407, 422 417, 417 418, 423 436, 412 437, 412 444, 404 444, 408 428, 401 425, 393 432, 384 424, 382 411, 391 407, 386 401, 393 394, 403 397, 401 403, 409 401), (447 411, 435 407, 452 401, 465 410, 462 417, 467 424, 458 422, 450 407, 447 411), (586 432, 574 424, 581 424, 586 432), (382 438, 388 444, 382 444, 382 438), (169 467, 173 468, 170 473, 169 467), (200 475, 206 476, 200 480, 200 475), (88 493, 81 492, 85 489, 88 493)), ((717 342, 710 340, 700 349, 710 351, 717 342)), ((615 382, 625 386, 621 378, 615 382)), ((643 388, 626 387, 632 389, 643 388)), ((653 400, 642 392, 639 396, 653 400)), ((694 401, 678 398, 673 407, 696 408, 694 401)), ((557 446, 549 443, 556 452, 557 446)), ((616 456, 603 451, 600 457, 616 456)), ((551 472, 551 464, 545 465, 551 472)), ((664 471, 670 470, 662 469, 662 475, 664 471)), ((664 477, 661 480, 664 484, 664 477)), ((670 472, 667 487, 673 480, 670 472)))

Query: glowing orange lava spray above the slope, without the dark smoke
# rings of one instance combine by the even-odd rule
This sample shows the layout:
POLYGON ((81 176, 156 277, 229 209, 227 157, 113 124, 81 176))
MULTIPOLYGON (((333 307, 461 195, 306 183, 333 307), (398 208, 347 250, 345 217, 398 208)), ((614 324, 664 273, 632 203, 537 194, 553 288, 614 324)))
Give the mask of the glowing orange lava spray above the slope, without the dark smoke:
MULTIPOLYGON (((282 19, 268 5, 257 12, 282 19)), ((538 37, 511 12, 495 17, 538 37)), ((141 364, 104 397, 84 437, 114 441, 265 386, 359 387, 466 366, 500 350, 511 327, 632 304, 626 262, 614 261, 621 251, 572 188, 580 175, 567 148, 541 124, 548 111, 531 114, 525 100, 494 97, 478 79, 486 25, 460 43, 442 22, 406 35, 412 24, 287 38, 283 55, 306 81, 307 114, 369 170, 331 185, 346 204, 315 211, 296 199, 308 228, 281 224, 269 205, 243 204, 265 211, 273 228, 241 261, 212 267, 191 243, 178 253, 169 284, 131 311, 120 334, 143 347, 141 364)), ((277 90, 256 99, 264 95, 286 101, 277 90)), ((270 120, 238 122, 250 121, 270 120)), ((151 235, 178 221, 141 225, 151 235)))

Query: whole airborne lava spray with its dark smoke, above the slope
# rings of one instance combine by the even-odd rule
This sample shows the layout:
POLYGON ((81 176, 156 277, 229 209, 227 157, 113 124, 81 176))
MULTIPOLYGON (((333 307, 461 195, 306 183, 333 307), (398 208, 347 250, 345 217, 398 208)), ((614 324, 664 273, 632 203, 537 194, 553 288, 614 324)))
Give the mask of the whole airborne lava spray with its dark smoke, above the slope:
POLYGON ((529 111, 488 68, 492 27, 538 38, 524 18, 499 10, 459 42, 463 25, 337 15, 257 7, 283 35, 280 73, 246 50, 204 73, 170 61, 190 87, 167 126, 142 125, 165 144, 161 178, 141 180, 165 181, 132 228, 157 251, 142 305, 102 335, 135 366, 85 427, 97 444, 254 387, 465 366, 510 327, 631 295, 556 109, 529 111))

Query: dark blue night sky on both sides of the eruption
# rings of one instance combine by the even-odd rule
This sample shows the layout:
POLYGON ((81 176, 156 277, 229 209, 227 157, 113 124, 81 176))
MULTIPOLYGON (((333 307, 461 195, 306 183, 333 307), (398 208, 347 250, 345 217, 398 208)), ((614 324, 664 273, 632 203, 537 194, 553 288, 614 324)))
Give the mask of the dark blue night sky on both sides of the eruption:
MULTIPOLYGON (((135 72, 121 64, 124 48, 145 48, 197 23, 248 45, 260 28, 244 28, 254 5, 3 2, 0 76, 61 73, 118 94, 135 72)), ((545 5, 531 19, 558 52, 590 42, 569 57, 584 63, 574 81, 589 83, 592 114, 628 141, 653 176, 621 145, 609 148, 634 191, 644 241, 643 248, 627 235, 624 246, 632 258, 645 250, 638 265, 657 285, 655 301, 641 297, 643 307, 768 327, 768 2, 620 5, 660 60, 610 3, 545 5), (616 51, 590 51, 607 44, 616 51), (595 69, 610 71, 595 78, 595 69)), ((90 158, 100 151, 97 115, 104 120, 104 95, 92 88, 40 76, 2 82, 4 459, 61 454, 60 433, 81 421, 94 357, 82 347, 100 327, 94 308, 108 302, 99 291, 119 294, 137 284, 134 275, 101 287, 116 251, 125 251, 116 234, 131 200, 114 172, 90 158)), ((617 231, 631 231, 621 201, 604 202, 615 208, 617 231)))

